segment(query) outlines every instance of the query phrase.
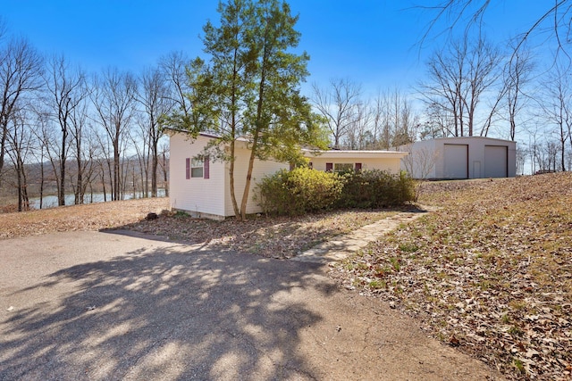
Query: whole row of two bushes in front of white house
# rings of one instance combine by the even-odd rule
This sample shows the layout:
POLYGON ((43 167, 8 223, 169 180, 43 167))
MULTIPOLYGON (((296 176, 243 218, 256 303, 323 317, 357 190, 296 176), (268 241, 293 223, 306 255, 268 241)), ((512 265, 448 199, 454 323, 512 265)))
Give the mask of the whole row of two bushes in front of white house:
POLYGON ((415 201, 415 180, 406 172, 350 170, 342 175, 309 168, 281 170, 258 184, 266 214, 300 215, 328 209, 379 209, 415 201))

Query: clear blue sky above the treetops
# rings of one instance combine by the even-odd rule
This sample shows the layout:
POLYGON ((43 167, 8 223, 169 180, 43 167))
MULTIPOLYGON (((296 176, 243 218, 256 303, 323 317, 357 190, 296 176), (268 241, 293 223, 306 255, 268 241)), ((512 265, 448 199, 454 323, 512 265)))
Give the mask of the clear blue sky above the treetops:
MULTIPOLYGON (((440 39, 417 43, 430 14, 412 4, 436 0, 290 0, 299 13, 300 47, 310 54, 308 83, 348 78, 366 92, 422 78, 427 54, 440 39)), ((3 0, 10 32, 46 54, 64 54, 89 71, 115 66, 138 72, 173 50, 202 54, 206 20, 218 21, 215 0, 3 0)), ((492 4, 487 34, 503 41, 530 26, 546 7, 537 0, 492 4)), ((305 87, 307 88, 307 87, 305 87)))

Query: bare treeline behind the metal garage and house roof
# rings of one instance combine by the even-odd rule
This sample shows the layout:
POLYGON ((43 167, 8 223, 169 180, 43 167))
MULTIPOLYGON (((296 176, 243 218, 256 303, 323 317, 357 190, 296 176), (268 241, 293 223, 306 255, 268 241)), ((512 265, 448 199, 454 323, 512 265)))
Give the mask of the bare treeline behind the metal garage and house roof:
POLYGON ((315 109, 335 148, 497 137, 517 141, 518 174, 570 170, 572 62, 567 54, 549 60, 535 54, 523 40, 501 46, 483 35, 464 35, 429 55, 425 76, 408 92, 396 88, 366 96, 361 84, 332 79, 313 85, 315 109))

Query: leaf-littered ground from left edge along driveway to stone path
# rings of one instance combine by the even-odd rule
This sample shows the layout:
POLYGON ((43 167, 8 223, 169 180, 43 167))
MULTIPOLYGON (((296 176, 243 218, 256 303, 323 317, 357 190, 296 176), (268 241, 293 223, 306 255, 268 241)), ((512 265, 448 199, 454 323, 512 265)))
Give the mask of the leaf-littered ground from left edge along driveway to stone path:
POLYGON ((0 214, 0 239, 71 230, 122 228, 189 244, 289 258, 315 244, 384 219, 397 211, 331 211, 288 217, 213 221, 167 211, 166 198, 115 201, 0 214), (149 212, 158 219, 146 220, 149 212))

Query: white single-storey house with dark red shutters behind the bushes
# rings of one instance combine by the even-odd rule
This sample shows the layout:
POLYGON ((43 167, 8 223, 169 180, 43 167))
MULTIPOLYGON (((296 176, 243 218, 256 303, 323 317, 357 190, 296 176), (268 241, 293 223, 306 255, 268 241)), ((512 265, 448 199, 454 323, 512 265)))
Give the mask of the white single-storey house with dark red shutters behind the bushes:
MULTIPOLYGON (((169 161, 169 198, 173 210, 187 211, 198 218, 225 219, 234 216, 232 208, 229 162, 214 161, 206 157, 198 160, 205 146, 213 139, 200 134, 191 139, 189 135, 172 131, 170 134, 171 158, 169 161)), ((399 173, 400 160, 408 153, 389 151, 304 151, 315 170, 388 170, 399 173)), ((240 203, 246 185, 250 151, 246 141, 235 145, 234 189, 240 203)), ((248 193, 247 213, 262 209, 252 199, 257 182, 278 170, 289 169, 290 164, 256 160, 248 193)))

